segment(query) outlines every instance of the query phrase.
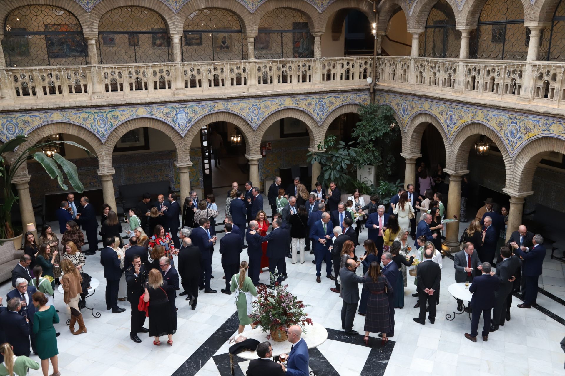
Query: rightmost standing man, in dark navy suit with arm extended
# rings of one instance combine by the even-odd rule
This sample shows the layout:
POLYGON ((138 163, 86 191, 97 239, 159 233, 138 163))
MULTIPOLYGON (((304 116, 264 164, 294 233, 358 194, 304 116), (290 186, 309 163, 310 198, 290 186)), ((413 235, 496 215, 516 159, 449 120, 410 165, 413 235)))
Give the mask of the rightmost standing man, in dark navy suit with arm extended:
POLYGON ((524 259, 522 276, 524 278, 524 302, 518 308, 532 308, 537 299, 537 281, 543 271, 542 264, 545 258, 544 237, 536 234, 532 238, 532 249, 525 253, 519 247, 514 249, 514 254, 524 259))

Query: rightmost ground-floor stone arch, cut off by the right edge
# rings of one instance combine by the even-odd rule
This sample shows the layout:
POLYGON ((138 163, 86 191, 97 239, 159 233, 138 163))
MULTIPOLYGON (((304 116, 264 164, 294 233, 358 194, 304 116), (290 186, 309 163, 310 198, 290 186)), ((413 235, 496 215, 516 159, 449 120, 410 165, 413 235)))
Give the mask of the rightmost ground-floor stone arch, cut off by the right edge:
POLYGON ((514 158, 514 165, 506 174, 506 188, 515 192, 532 191, 532 181, 537 165, 550 152, 565 154, 565 140, 541 136, 529 141, 514 158))

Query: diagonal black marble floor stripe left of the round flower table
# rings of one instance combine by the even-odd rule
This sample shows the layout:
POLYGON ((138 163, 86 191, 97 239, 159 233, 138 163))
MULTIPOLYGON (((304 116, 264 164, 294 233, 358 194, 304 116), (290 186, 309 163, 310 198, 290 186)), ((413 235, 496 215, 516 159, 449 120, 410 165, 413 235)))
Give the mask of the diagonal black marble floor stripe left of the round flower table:
MULTIPOLYGON (((227 342, 240 325, 237 311, 233 313, 224 324, 218 328, 186 361, 172 374, 172 376, 193 376, 206 364, 208 360, 227 342)), ((222 362, 223 363, 223 362, 222 362)), ((229 364, 229 355, 228 355, 229 364)), ((231 373, 230 373, 231 374, 231 373)), ((243 374, 243 373, 241 373, 243 374)))

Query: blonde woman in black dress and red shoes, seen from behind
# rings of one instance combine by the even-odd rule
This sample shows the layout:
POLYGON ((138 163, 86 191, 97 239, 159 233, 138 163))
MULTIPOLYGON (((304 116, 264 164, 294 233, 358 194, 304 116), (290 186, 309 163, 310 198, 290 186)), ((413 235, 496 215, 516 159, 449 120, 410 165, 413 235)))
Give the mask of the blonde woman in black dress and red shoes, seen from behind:
POLYGON ((143 300, 145 303, 149 302, 149 335, 155 337, 155 346, 160 346, 159 337, 162 335, 167 335, 167 343, 173 346, 173 334, 176 332, 176 313, 169 303, 166 291, 167 281, 163 281, 161 272, 151 269, 143 300))

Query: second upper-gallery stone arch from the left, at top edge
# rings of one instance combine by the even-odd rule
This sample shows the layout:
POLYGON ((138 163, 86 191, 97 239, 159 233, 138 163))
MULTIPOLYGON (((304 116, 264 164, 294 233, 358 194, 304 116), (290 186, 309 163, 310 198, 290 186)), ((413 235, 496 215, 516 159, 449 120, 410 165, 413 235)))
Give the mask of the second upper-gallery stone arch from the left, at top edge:
POLYGON ((147 8, 152 11, 157 12, 163 17, 165 26, 169 34, 172 33, 182 33, 182 21, 176 17, 175 13, 169 8, 165 3, 160 0, 113 0, 113 1, 101 1, 99 2, 92 11, 90 11, 90 17, 92 19, 92 25, 90 31, 93 33, 98 33, 98 24, 100 19, 106 12, 119 7, 141 7, 147 8))

